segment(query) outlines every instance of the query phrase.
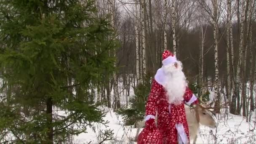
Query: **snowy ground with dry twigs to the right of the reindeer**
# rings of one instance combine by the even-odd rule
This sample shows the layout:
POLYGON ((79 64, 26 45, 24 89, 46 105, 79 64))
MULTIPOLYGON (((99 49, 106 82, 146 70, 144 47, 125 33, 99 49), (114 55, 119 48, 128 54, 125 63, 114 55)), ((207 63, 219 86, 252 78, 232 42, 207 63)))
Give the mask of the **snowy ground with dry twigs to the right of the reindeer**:
POLYGON ((255 113, 253 113, 251 122, 248 123, 242 116, 229 114, 227 119, 224 115, 224 109, 222 109, 221 115, 216 116, 217 128, 200 126, 197 144, 255 144, 255 113))

